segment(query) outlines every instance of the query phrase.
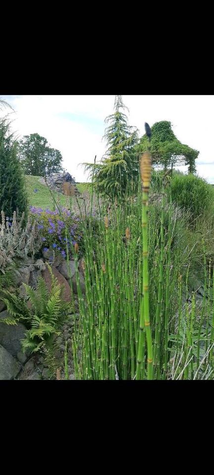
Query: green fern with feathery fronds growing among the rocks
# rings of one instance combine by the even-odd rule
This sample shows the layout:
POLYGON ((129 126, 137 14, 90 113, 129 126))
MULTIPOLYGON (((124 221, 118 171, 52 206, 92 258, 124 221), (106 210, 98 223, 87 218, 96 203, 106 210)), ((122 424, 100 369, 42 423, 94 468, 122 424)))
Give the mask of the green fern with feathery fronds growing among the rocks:
POLYGON ((70 304, 64 303, 62 299, 63 286, 57 284, 51 267, 48 268, 52 279, 50 292, 42 277, 38 280, 36 290, 24 284, 30 308, 24 299, 7 290, 3 291, 4 297, 1 298, 11 316, 10 321, 7 319, 5 323, 14 325, 23 321, 28 328, 22 346, 30 352, 36 352, 44 345, 52 345, 54 335, 60 334, 60 328, 70 311, 70 304))

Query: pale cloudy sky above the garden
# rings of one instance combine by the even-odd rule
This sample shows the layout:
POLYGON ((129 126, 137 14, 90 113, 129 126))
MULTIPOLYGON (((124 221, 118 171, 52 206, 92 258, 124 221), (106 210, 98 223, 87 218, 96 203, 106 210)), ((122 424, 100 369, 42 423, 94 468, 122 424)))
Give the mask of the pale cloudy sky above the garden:
MULTIPOLYGON (((104 120, 113 113, 114 95, 0 95, 13 107, 16 136, 38 133, 60 150, 65 168, 77 182, 86 182, 83 162, 97 161, 106 151, 104 120)), ((123 95, 128 123, 145 133, 144 123, 167 120, 182 143, 199 150, 197 173, 214 183, 214 95, 123 95)), ((179 167, 186 171, 187 167, 179 167)))

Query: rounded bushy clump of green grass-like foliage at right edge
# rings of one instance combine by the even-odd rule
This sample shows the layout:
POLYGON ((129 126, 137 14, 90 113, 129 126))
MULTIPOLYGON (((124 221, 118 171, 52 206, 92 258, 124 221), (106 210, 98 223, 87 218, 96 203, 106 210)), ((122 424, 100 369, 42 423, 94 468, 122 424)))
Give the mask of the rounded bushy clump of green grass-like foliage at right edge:
POLYGON ((214 189, 203 178, 173 174, 171 194, 173 203, 190 210, 192 222, 205 214, 214 214, 214 189))

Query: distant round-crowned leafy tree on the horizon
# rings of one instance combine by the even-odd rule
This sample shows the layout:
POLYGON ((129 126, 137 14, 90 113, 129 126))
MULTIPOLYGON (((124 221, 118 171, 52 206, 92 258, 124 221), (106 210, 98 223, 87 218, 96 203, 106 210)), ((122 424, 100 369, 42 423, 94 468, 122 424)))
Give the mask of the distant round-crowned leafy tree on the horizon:
POLYGON ((26 175, 45 176, 62 170, 60 151, 51 148, 39 134, 26 135, 20 140, 18 156, 26 175))

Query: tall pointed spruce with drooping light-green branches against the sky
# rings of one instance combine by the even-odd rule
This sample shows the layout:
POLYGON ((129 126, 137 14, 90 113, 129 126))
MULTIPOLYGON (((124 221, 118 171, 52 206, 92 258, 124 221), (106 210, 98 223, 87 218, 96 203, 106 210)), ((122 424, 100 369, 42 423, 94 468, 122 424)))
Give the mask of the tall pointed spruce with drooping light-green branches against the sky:
POLYGON ((139 160, 134 150, 138 141, 138 130, 128 125, 127 116, 121 112, 128 108, 121 95, 115 96, 114 113, 105 119, 107 128, 104 138, 107 152, 101 163, 85 163, 86 170, 94 176, 99 193, 110 198, 123 196, 127 189, 134 191, 138 183, 139 160))

